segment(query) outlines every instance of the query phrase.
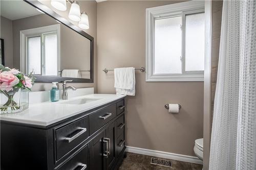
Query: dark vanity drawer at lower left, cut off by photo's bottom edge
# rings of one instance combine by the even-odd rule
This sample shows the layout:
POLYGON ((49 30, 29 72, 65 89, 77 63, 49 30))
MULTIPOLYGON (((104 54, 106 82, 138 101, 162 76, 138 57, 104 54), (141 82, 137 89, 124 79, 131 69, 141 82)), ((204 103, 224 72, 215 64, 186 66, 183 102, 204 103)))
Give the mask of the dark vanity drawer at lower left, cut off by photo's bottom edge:
POLYGON ((88 165, 88 145, 74 155, 68 162, 64 163, 58 170, 86 170, 89 169, 88 165))

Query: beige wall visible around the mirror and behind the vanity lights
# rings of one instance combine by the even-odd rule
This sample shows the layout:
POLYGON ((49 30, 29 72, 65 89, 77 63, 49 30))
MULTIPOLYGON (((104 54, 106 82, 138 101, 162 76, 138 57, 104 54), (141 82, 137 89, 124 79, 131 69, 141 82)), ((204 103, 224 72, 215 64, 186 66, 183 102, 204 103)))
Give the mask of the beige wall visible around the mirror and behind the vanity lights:
MULTIPOLYGON (((68 4, 67 11, 58 11, 51 7, 50 1, 41 1, 42 4, 47 5, 49 8, 53 9, 60 16, 68 19, 68 13, 70 5, 68 4)), ((88 33, 92 37, 94 37, 94 83, 69 83, 69 85, 73 85, 77 88, 83 87, 94 87, 94 90, 97 91, 97 3, 96 1, 78 1, 80 5, 80 10, 88 13, 89 16, 89 25, 90 29, 84 30, 84 32, 88 33)), ((77 25, 78 22, 73 22, 77 25)), ((36 83, 33 87, 33 91, 42 91, 51 89, 51 83, 36 83)), ((59 84, 59 88, 62 86, 59 84)))

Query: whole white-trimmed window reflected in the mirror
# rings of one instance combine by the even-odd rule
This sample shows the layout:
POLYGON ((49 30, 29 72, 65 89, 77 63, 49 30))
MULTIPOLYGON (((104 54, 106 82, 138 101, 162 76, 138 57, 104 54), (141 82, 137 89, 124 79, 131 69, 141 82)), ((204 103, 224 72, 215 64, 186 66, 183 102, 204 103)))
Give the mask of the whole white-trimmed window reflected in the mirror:
POLYGON ((20 31, 21 70, 35 75, 57 76, 59 70, 59 25, 20 31))

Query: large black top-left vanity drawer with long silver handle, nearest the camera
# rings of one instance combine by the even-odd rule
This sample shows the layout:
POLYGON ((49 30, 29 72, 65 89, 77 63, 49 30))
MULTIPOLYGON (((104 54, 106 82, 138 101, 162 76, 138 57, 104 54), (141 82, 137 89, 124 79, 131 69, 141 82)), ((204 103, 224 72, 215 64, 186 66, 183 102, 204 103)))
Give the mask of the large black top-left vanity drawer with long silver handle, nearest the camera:
POLYGON ((56 158, 70 152, 89 136, 88 116, 56 130, 56 158))

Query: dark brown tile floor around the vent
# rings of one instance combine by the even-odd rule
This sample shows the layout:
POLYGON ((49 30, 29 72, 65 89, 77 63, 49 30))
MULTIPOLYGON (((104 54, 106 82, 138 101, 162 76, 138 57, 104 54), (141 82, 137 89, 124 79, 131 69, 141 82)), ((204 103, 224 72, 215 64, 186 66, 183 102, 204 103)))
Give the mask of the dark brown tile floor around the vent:
MULTIPOLYGON (((154 157, 155 158, 155 157, 154 157)), ((163 158, 160 158, 163 159, 163 158)), ((168 159, 166 159, 168 160, 168 159)), ((203 165, 172 160, 173 167, 153 165, 150 163, 151 156, 127 152, 119 170, 202 170, 203 165)))

